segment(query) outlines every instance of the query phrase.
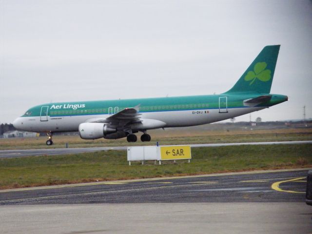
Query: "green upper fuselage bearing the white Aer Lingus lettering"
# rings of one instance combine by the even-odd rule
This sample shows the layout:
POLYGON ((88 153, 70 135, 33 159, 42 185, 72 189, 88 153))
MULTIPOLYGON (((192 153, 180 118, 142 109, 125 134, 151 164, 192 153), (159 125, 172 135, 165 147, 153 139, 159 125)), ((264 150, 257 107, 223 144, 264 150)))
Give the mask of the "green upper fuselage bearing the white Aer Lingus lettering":
MULTIPOLYGON (((140 105, 141 113, 146 112, 167 112, 185 110, 208 110, 219 109, 219 98, 227 97, 227 108, 246 108, 243 100, 256 98, 261 94, 224 94, 224 95, 203 95, 203 96, 184 96, 168 98, 139 98, 124 100, 102 100, 102 101, 79 101, 79 102, 57 102, 46 103, 29 109, 22 117, 40 116, 41 107, 48 106, 48 116, 81 116, 81 115, 102 115, 114 114, 115 108, 121 111, 125 108, 140 105), (112 108, 111 110, 109 108, 112 108)), ((271 101, 262 103, 259 106, 272 106, 285 101, 283 95, 273 95, 271 101)))

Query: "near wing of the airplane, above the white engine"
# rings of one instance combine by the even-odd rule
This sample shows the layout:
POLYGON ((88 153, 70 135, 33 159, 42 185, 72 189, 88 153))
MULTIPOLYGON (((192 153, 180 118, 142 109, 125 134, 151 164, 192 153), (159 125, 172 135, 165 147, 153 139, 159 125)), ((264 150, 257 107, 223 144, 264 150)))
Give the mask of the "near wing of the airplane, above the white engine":
POLYGON ((127 124, 141 123, 139 105, 133 108, 126 108, 107 118, 88 119, 86 122, 108 123, 112 127, 123 127, 127 124))

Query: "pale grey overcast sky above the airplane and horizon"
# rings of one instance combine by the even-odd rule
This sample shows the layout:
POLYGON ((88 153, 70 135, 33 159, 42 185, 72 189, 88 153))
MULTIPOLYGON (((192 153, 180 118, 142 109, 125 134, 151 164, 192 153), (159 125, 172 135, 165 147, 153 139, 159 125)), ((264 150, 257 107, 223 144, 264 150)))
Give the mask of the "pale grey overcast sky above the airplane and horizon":
POLYGON ((0 0, 0 122, 51 101, 219 94, 273 44, 271 93, 289 101, 252 119, 312 117, 312 1, 0 0))

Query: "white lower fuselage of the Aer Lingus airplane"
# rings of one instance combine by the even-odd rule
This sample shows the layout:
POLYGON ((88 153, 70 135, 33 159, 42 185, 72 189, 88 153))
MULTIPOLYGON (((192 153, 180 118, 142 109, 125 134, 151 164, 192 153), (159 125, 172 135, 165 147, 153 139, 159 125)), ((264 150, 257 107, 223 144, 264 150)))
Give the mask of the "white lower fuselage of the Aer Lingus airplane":
MULTIPOLYGON (((228 118, 259 111, 265 107, 231 108, 226 113, 219 113, 219 109, 163 111, 142 113, 141 118, 156 119, 166 123, 169 127, 187 127, 213 123, 228 118)), ((106 118, 110 115, 94 115, 92 118, 106 118)), ((40 117, 19 117, 14 126, 30 132, 77 132, 80 123, 88 122, 89 115, 47 117, 42 121, 40 117)))

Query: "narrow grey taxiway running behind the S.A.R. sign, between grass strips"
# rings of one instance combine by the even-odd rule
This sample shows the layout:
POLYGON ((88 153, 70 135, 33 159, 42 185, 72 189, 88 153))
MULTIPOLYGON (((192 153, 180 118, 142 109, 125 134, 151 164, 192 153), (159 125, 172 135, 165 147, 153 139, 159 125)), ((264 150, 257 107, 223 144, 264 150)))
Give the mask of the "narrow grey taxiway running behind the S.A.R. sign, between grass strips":
MULTIPOLYGON (((219 147, 219 146, 235 146, 235 145, 274 145, 274 144, 312 144, 312 140, 218 143, 218 144, 191 144, 191 147, 195 148, 195 147, 219 147)), ((86 153, 86 152, 108 151, 108 150, 126 150, 126 149, 127 149, 127 146, 93 147, 93 148, 35 149, 35 150, 1 150, 0 151, 0 158, 42 156, 42 155, 52 156, 52 155, 78 154, 78 153, 86 153)))

